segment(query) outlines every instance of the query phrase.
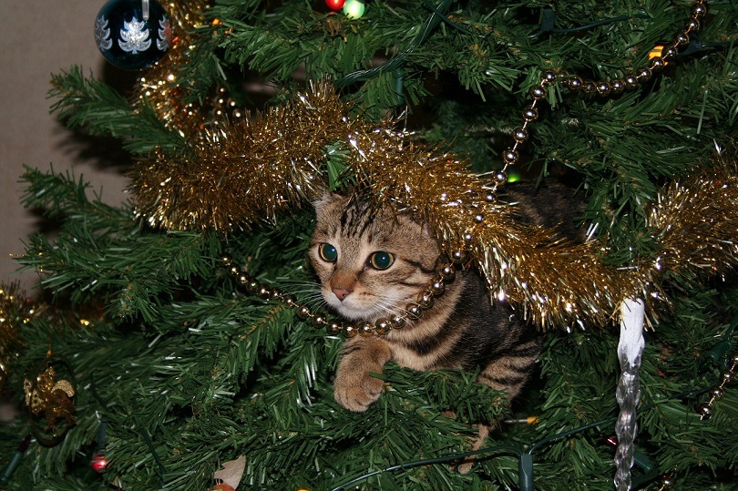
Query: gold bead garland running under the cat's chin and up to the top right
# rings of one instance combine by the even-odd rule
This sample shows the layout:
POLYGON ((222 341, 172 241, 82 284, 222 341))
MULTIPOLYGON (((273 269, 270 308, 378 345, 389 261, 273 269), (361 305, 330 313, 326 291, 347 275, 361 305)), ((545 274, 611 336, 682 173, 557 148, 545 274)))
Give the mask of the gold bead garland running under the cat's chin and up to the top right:
MULTIPOLYGON (((485 186, 487 192, 483 199, 487 203, 494 203, 497 201, 497 189, 499 186, 502 186, 507 182, 507 169, 518 163, 518 159, 520 157, 518 148, 524 144, 530 136, 528 127, 538 119, 538 102, 546 98, 548 87, 560 82, 568 87, 572 92, 581 91, 587 96, 600 97, 618 95, 625 90, 635 89, 639 84, 651 80, 654 73, 661 71, 661 69, 666 66, 669 59, 677 56, 680 47, 689 44, 691 33, 700 29, 700 21, 705 15, 707 15, 707 0, 695 0, 692 5, 690 20, 669 43, 664 45, 661 49, 661 53, 657 56, 651 56, 650 66, 628 73, 622 78, 614 78, 610 81, 595 81, 578 77, 576 75, 571 76, 563 71, 559 74, 557 73, 557 70, 554 69, 544 70, 541 74, 541 79, 540 82, 538 82, 538 85, 530 88, 528 92, 532 101, 528 107, 523 109, 521 114, 523 124, 519 128, 513 130, 512 137, 515 140, 515 143, 502 153, 503 167, 494 173, 492 181, 485 186)), ((475 202, 475 200, 472 200, 470 203, 469 211, 472 212, 471 214, 473 216, 474 224, 471 229, 466 230, 462 235, 462 239, 464 241, 463 247, 456 249, 449 248, 447 244, 441 245, 444 255, 446 255, 447 258, 450 258, 450 261, 442 261, 442 265, 436 271, 436 276, 428 283, 424 292, 418 295, 415 302, 408 303, 402 313, 395 314, 391 317, 383 317, 374 322, 374 324, 371 322, 363 322, 359 325, 354 325, 351 323, 343 324, 339 322, 330 322, 325 315, 314 313, 306 305, 297 302, 294 295, 283 293, 279 289, 263 285, 259 281, 256 281, 247 272, 242 271, 241 267, 235 264, 230 256, 224 256, 221 259, 229 274, 231 274, 231 276, 245 288, 246 292, 254 294, 264 300, 283 302, 288 307, 296 309, 297 316, 299 318, 312 322, 313 325, 325 329, 329 334, 336 335, 343 333, 343 336, 346 338, 353 338, 356 334, 361 334, 362 336, 385 335, 393 329, 404 328, 408 322, 417 321, 423 312, 430 310, 433 307, 434 299, 445 292, 446 282, 453 281, 456 275, 456 266, 463 265, 468 262, 468 244, 474 240, 474 234, 471 230, 474 230, 475 226, 481 224, 485 220, 483 213, 475 211, 478 210, 479 204, 480 203, 475 202)), ((733 369, 730 371, 730 379, 723 378, 723 384, 733 380, 734 369, 735 364, 733 364, 733 369)), ((721 391, 723 384, 721 384, 719 388, 721 391)), ((716 389, 716 391, 718 391, 718 389, 716 389)), ((715 392, 715 394, 717 394, 717 392, 715 392)), ((716 398, 716 396, 713 396, 710 403, 702 404, 701 407, 704 406, 706 408, 705 411, 712 414, 712 402, 716 398)))

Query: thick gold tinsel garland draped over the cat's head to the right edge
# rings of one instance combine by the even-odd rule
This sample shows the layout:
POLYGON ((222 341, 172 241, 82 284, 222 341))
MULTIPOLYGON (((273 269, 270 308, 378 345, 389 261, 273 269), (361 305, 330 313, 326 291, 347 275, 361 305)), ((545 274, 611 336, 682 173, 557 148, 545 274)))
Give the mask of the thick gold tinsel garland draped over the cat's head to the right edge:
MULTIPOLYGON (((326 146, 343 142, 346 159, 378 204, 411 210, 427 221, 449 255, 467 254, 494 296, 522 308, 538 327, 602 325, 620 302, 661 291, 665 271, 714 274, 738 262, 735 165, 673 182, 649 211, 656 261, 606 267, 599 242, 574 244, 516 221, 488 199, 486 182, 466 161, 396 131, 392 121, 368 125, 326 83, 257 118, 205 132, 194 157, 142 161, 134 189, 138 211, 169 229, 223 232, 274 221, 325 188, 326 146)), ((657 296, 657 295, 651 295, 657 296)), ((662 297, 662 295, 661 295, 662 297)))

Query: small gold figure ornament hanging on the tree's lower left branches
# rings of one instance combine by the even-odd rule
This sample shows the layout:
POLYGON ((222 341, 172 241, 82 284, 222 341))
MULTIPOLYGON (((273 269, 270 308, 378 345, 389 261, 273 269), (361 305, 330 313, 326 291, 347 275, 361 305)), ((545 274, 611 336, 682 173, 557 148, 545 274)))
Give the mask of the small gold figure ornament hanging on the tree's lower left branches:
POLYGON ((67 430, 77 423, 75 385, 67 379, 57 380, 57 369, 67 371, 70 378, 74 377, 69 365, 49 352, 43 372, 38 373, 35 380, 26 377, 23 384, 31 426, 38 441, 44 445, 56 445, 67 434, 67 430), (46 419, 45 432, 51 436, 41 432, 36 425, 36 421, 42 417, 46 419))

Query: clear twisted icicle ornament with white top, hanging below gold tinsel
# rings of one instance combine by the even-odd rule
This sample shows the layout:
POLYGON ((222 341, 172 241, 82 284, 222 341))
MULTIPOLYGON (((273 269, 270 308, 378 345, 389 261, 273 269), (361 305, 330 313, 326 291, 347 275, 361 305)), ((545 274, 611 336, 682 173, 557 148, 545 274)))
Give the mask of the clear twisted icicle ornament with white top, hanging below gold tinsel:
POLYGON ((644 304, 640 299, 627 299, 620 305, 620 343, 618 343, 620 380, 616 389, 620 414, 615 425, 615 434, 618 436, 615 488, 618 491, 630 491, 630 468, 633 466, 635 436, 638 430, 636 406, 641 399, 638 372, 645 346, 644 313, 644 304))

